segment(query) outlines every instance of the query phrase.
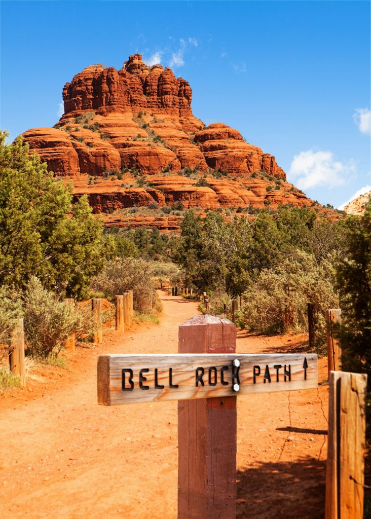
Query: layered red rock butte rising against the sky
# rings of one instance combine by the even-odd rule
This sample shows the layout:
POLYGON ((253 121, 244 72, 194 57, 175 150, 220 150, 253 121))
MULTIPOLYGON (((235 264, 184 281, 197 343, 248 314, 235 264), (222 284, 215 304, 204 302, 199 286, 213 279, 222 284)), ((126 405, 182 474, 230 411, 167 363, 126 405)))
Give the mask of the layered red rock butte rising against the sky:
MULTIPOLYGON (((107 224, 127 221, 109 214, 151 202, 203 209, 313 204, 238 130, 206 127, 193 115, 188 82, 168 67, 147 66, 141 54, 119 71, 86 67, 64 85, 63 101, 58 124, 28 130, 24 140, 57 177, 71 177, 76 197, 87 193, 94 212, 107 213, 107 224)), ((178 227, 162 218, 140 225, 178 227)))

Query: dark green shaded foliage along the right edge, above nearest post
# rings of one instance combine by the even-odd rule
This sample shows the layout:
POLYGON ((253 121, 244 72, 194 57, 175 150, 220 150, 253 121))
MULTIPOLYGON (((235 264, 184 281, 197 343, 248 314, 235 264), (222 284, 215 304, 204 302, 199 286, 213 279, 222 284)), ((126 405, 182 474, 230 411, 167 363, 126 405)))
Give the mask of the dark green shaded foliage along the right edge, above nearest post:
MULTIPOLYGON (((362 218, 349 216, 343 228, 346 255, 336 270, 341 308, 343 370, 371 372, 371 202, 362 218)), ((371 377, 368 385, 371 387, 371 377)))

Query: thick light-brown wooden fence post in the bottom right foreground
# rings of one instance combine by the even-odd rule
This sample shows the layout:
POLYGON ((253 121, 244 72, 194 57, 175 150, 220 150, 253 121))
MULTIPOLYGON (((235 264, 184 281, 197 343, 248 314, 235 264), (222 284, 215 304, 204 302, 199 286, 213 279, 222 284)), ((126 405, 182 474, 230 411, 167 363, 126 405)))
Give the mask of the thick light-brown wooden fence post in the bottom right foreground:
POLYGON ((367 375, 331 371, 325 519, 362 519, 367 375))

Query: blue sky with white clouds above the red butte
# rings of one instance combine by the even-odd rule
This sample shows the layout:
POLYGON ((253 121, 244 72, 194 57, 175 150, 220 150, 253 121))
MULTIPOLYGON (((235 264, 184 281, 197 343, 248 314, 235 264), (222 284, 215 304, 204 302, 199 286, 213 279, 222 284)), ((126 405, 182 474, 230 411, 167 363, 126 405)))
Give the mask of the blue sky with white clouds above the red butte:
MULTIPOLYGON (((371 185, 369 2, 1 2, 1 128, 58 120, 62 87, 129 54, 171 66, 193 112, 335 207, 371 185)), ((371 186, 370 186, 371 189, 371 186)))

